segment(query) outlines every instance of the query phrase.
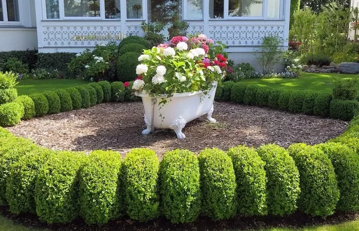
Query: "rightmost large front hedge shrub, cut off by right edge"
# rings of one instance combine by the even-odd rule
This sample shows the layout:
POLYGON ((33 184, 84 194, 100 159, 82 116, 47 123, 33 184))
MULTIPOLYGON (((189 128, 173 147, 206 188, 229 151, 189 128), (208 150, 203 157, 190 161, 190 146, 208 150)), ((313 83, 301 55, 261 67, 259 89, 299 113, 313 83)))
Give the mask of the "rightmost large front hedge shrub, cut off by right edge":
POLYGON ((338 143, 316 145, 331 160, 340 198, 336 209, 342 211, 359 210, 359 156, 349 147, 338 143))

